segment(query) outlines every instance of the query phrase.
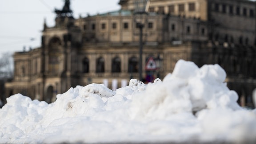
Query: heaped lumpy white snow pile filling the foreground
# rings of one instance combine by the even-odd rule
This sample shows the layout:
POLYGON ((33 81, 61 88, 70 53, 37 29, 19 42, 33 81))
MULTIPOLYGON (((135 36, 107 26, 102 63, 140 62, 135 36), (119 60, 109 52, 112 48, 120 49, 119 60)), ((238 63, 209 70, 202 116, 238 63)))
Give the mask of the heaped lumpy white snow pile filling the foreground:
POLYGON ((115 92, 77 86, 52 104, 16 94, 0 109, 0 143, 254 143, 256 112, 225 78, 217 64, 179 60, 163 81, 115 92))

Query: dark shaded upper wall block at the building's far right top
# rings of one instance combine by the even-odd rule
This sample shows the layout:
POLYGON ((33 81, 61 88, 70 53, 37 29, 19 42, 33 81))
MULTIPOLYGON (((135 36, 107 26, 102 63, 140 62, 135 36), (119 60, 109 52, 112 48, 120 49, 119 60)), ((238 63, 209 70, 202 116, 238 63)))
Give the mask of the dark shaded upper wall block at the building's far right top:
POLYGON ((254 45, 256 4, 248 0, 209 0, 209 19, 216 25, 213 39, 254 45))

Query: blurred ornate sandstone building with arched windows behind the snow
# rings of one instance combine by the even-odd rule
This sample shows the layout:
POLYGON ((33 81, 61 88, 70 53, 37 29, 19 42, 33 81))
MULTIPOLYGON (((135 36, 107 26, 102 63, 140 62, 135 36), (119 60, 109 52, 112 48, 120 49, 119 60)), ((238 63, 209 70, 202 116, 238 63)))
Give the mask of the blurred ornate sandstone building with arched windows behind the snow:
POLYGON ((67 7, 56 10, 56 25, 44 24, 40 48, 14 54, 15 74, 6 96, 22 93, 51 102, 76 85, 138 79, 139 28, 143 28, 143 68, 152 57, 161 79, 177 60, 220 64, 228 87, 242 106, 252 105, 256 88, 256 3, 249 0, 151 0, 147 15, 134 15, 135 0, 121 9, 74 19, 67 7))

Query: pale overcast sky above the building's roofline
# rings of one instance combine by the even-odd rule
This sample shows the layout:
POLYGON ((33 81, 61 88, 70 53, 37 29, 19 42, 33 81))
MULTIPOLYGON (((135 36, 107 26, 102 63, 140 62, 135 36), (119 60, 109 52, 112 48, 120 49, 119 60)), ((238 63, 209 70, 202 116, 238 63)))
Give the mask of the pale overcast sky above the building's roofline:
MULTIPOLYGON (((119 10, 119 0, 71 0, 73 16, 78 18, 119 10)), ((64 0, 0 0, 0 53, 40 47, 44 18, 48 26, 55 22, 54 8, 64 0)))

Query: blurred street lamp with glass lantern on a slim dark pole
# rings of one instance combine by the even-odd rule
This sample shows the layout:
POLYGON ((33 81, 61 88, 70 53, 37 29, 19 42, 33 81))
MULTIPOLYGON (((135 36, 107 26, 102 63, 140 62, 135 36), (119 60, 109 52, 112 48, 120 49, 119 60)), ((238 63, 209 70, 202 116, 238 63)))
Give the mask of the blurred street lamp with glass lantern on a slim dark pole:
MULTIPOLYGON (((148 12, 150 0, 134 0, 134 15, 144 15, 148 12)), ((142 49, 143 49, 143 27, 142 17, 140 23, 136 24, 137 28, 140 28, 140 58, 139 58, 139 80, 142 81, 142 49)))

